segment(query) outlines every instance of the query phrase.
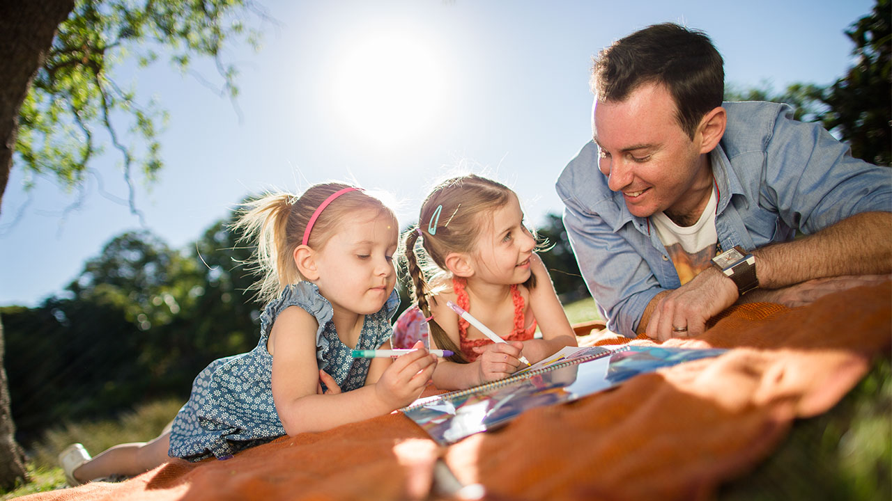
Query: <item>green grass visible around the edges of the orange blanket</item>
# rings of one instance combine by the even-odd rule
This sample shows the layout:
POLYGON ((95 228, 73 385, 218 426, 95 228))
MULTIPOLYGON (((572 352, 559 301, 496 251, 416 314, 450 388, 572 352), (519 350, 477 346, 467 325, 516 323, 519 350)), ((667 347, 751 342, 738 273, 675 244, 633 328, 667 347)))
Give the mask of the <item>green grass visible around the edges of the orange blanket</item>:
MULTIPOLYGON (((591 299, 566 306, 571 323, 599 318, 591 299)), ((153 439, 183 402, 147 403, 119 420, 65 423, 29 450, 31 482, 0 499, 65 487, 56 456, 72 442, 96 454, 112 445, 153 439)), ((892 363, 871 372, 829 412, 798 420, 780 447, 753 472, 723 485, 718 499, 892 499, 892 363)))

